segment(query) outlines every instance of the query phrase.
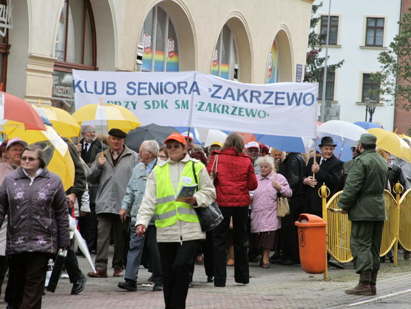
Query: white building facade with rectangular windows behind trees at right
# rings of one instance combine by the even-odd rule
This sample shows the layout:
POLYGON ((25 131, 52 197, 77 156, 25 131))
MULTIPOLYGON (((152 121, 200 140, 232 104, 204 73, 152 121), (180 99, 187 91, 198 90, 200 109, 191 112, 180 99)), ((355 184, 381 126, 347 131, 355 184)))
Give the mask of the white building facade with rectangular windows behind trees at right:
MULTIPOLYGON (((387 49, 392 38, 399 32, 401 0, 364 1, 314 1, 323 3, 318 10, 321 17, 317 32, 327 33, 330 12, 329 64, 345 60, 335 74, 327 76, 325 100, 331 101, 326 108, 326 120, 340 119, 347 122, 368 121, 365 99, 368 90, 379 87, 370 79, 370 73, 380 70, 380 52, 387 49)), ((322 56, 325 55, 325 48, 322 56)), ((321 87, 320 87, 321 89, 321 87)), ((321 91, 320 91, 321 92, 321 91)), ((321 95, 321 93, 320 93, 321 95)), ((369 98, 378 102, 378 98, 369 98)), ((393 129, 395 98, 377 103, 373 122, 388 130, 393 129)))

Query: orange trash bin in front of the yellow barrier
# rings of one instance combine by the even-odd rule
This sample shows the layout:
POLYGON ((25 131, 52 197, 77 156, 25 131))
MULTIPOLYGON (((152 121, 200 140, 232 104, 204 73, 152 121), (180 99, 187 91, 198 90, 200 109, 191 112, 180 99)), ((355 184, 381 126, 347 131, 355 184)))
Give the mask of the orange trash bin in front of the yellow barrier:
POLYGON ((301 268, 306 273, 324 273, 327 265, 327 222, 319 216, 301 214, 295 225, 298 227, 301 268))

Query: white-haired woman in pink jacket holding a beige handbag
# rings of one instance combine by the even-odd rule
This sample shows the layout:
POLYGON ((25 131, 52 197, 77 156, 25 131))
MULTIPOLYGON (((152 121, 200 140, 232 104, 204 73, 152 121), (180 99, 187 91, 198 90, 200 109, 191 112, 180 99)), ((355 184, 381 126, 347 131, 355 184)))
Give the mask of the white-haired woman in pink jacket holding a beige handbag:
POLYGON ((250 247, 263 249, 261 267, 270 266, 270 251, 275 247, 276 233, 281 228, 277 217, 279 196, 290 198, 292 190, 287 179, 274 172, 274 159, 260 157, 257 161, 260 174, 257 175, 258 187, 253 194, 251 204, 251 239, 250 247))

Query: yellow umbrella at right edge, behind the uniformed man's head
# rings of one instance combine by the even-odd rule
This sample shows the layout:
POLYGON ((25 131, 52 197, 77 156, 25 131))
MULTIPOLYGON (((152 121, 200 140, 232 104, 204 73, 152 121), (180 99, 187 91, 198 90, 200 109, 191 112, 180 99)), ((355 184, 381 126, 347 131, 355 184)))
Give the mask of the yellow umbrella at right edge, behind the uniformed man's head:
POLYGON ((367 131, 377 137, 379 148, 390 152, 395 157, 411 162, 411 148, 397 134, 381 128, 371 128, 367 131))

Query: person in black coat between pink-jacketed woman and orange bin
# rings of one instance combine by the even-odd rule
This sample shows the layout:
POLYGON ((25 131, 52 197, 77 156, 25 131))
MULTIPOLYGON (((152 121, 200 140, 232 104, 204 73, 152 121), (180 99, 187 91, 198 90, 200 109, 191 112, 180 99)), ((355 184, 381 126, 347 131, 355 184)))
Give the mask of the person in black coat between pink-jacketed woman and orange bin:
POLYGON ((285 176, 292 190, 292 197, 289 199, 290 214, 281 218, 281 260, 279 263, 284 265, 300 263, 298 230, 294 222, 303 213, 304 171, 305 161, 303 156, 297 152, 287 152, 287 156, 281 162, 279 168, 280 174, 285 176))

